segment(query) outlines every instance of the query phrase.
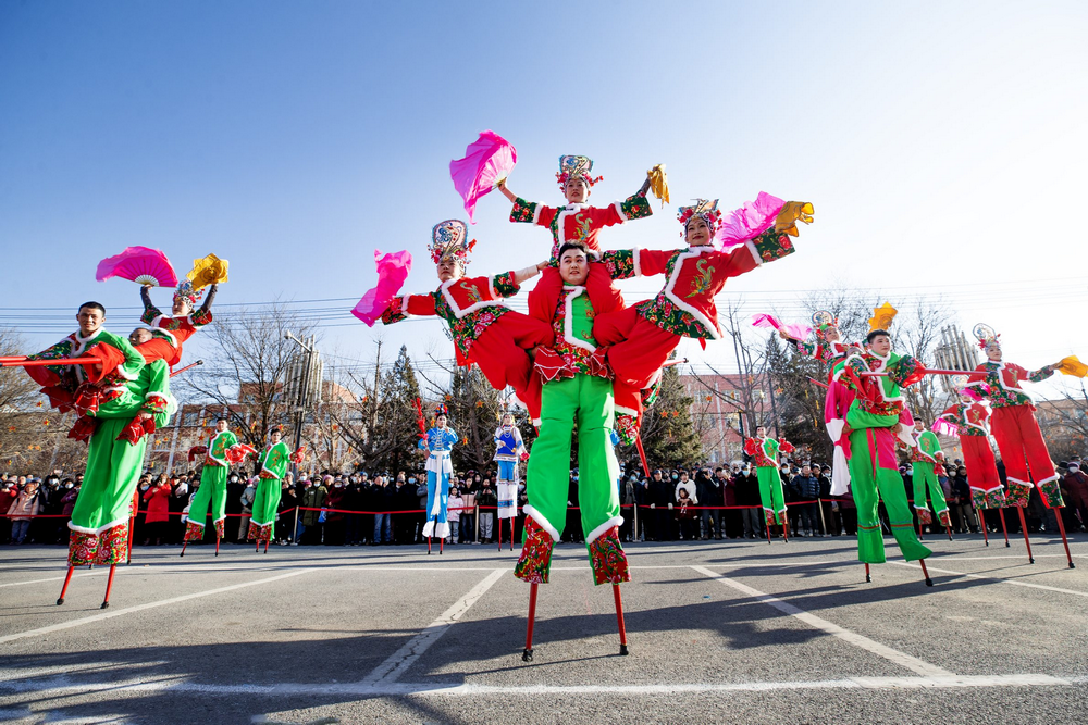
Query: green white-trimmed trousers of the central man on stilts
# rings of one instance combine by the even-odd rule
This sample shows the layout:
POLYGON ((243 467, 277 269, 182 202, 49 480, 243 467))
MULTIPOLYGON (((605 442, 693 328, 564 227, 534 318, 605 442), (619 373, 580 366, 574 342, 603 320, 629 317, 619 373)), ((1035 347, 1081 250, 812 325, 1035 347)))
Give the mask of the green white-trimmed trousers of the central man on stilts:
POLYGON ((533 442, 526 473, 529 504, 524 510, 556 541, 567 521, 570 440, 576 423, 578 505, 586 546, 613 526, 623 523, 616 486, 619 463, 611 443, 614 420, 610 380, 579 374, 544 385, 540 436, 533 442))

